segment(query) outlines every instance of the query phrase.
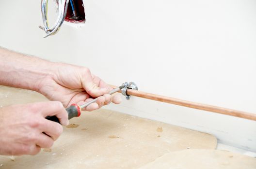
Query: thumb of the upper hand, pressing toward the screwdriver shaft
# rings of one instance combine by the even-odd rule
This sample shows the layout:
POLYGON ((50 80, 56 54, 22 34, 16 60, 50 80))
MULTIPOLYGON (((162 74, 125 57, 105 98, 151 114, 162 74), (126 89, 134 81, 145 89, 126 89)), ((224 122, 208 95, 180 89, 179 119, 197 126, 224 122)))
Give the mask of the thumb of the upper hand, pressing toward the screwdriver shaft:
POLYGON ((109 93, 110 91, 108 87, 101 88, 94 82, 94 79, 89 69, 85 69, 83 71, 83 77, 81 82, 85 91, 95 98, 104 95, 105 93, 109 93))

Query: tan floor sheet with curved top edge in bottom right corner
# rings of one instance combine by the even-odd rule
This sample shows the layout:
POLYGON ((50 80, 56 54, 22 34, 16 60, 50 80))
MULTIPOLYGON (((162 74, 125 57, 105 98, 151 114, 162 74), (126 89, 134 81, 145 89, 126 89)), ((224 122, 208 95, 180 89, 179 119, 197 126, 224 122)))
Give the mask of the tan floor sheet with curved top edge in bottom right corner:
POLYGON ((222 150, 167 153, 139 169, 256 169, 256 158, 222 150))

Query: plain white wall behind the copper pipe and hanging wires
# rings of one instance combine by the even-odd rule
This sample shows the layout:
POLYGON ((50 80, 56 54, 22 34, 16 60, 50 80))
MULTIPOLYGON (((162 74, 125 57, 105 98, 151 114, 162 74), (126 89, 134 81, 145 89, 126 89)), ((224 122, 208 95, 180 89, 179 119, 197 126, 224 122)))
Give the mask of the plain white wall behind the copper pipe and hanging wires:
MULTIPOLYGON (((84 0, 86 24, 43 39, 40 0, 0 1, 0 46, 89 67, 109 84, 256 113, 255 0, 84 0)), ((256 151, 256 122, 132 98, 107 108, 256 151)))

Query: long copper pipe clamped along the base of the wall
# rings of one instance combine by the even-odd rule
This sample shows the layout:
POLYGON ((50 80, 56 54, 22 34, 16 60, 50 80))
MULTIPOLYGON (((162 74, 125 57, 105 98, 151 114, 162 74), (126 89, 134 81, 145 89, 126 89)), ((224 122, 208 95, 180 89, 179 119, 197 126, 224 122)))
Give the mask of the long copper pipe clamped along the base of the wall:
MULTIPOLYGON (((113 88, 116 88, 116 86, 114 85, 111 85, 111 86, 113 88)), ((247 112, 227 109, 227 108, 218 107, 218 106, 212 106, 212 105, 203 104, 203 103, 196 103, 196 102, 182 100, 182 99, 160 96, 160 95, 146 93, 146 92, 132 90, 132 89, 127 89, 126 93, 127 95, 130 95, 130 96, 137 96, 144 99, 151 99, 151 100, 161 101, 165 103, 176 104, 179 106, 189 107, 193 109, 199 109, 199 110, 204 110, 204 111, 214 112, 214 113, 221 113, 225 115, 231 115, 235 117, 256 121, 256 113, 247 113, 247 112)))

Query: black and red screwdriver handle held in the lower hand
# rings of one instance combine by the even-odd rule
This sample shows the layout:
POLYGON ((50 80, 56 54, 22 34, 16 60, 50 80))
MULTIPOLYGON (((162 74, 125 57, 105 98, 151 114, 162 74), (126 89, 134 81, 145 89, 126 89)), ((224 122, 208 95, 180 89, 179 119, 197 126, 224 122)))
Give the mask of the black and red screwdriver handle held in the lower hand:
MULTIPOLYGON (((79 117, 80 114, 81 114, 81 108, 77 104, 71 104, 70 107, 66 108, 66 112, 68 114, 68 120, 69 120, 73 117, 79 117)), ((46 119, 48 119, 50 121, 53 121, 53 122, 60 123, 60 120, 55 115, 54 116, 47 116, 46 119)))

